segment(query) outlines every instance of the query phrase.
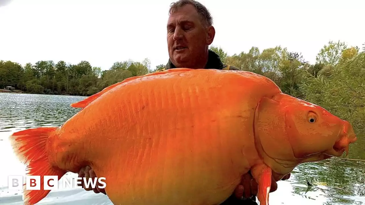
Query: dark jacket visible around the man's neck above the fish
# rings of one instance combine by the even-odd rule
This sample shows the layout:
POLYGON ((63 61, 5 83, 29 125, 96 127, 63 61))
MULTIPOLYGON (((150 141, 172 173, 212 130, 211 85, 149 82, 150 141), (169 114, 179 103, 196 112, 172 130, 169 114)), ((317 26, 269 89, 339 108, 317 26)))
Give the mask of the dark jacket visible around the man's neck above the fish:
MULTIPOLYGON (((166 69, 172 69, 172 68, 176 68, 176 66, 171 62, 171 60, 169 59, 169 62, 165 65, 165 68, 162 70, 166 70, 166 69)), ((216 54, 214 51, 209 50, 208 51, 208 62, 205 65, 205 69, 218 69, 218 70, 239 70, 237 67, 228 65, 228 64, 224 64, 221 60, 218 54, 216 54)), ((158 70, 158 71, 162 71, 162 70, 158 70)))

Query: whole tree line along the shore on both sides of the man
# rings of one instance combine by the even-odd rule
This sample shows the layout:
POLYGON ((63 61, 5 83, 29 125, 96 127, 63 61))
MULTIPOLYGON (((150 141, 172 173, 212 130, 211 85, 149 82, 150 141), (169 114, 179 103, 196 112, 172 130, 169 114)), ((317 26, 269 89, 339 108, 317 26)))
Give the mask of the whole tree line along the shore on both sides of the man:
MULTIPOLYGON (((251 47, 247 53, 234 55, 227 55, 220 47, 210 49, 224 63, 269 77, 284 93, 319 104, 355 126, 365 122, 365 43, 360 51, 359 47, 329 41, 319 50, 315 64, 280 46, 262 51, 251 47)), ((161 64, 150 69, 148 58, 142 62, 115 62, 103 71, 87 61, 76 65, 38 61, 24 66, 0 61, 0 89, 13 86, 26 93, 90 96, 128 77, 163 67, 161 64)))

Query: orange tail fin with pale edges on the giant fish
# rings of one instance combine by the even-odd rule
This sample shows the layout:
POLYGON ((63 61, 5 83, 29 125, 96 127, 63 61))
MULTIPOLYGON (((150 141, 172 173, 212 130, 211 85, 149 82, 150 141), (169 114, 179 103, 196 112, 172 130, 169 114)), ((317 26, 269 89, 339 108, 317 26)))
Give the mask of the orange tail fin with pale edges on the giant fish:
POLYGON ((31 128, 15 132, 10 136, 11 145, 18 159, 27 164, 27 175, 41 176, 41 190, 24 190, 25 205, 36 204, 47 196, 50 190, 44 190, 44 175, 57 175, 58 179, 66 174, 65 170, 52 167, 48 161, 46 145, 48 138, 58 127, 31 128))

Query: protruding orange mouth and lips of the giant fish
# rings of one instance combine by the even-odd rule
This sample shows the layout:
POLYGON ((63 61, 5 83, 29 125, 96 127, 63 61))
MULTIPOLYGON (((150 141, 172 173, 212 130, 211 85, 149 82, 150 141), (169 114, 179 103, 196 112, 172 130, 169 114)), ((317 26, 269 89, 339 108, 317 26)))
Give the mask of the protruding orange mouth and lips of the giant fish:
POLYGON ((346 156, 349 155, 349 145, 356 142, 357 138, 354 129, 350 123, 345 121, 342 131, 340 131, 339 138, 335 142, 334 146, 327 150, 324 154, 328 156, 341 156, 343 152, 346 152, 346 156))

